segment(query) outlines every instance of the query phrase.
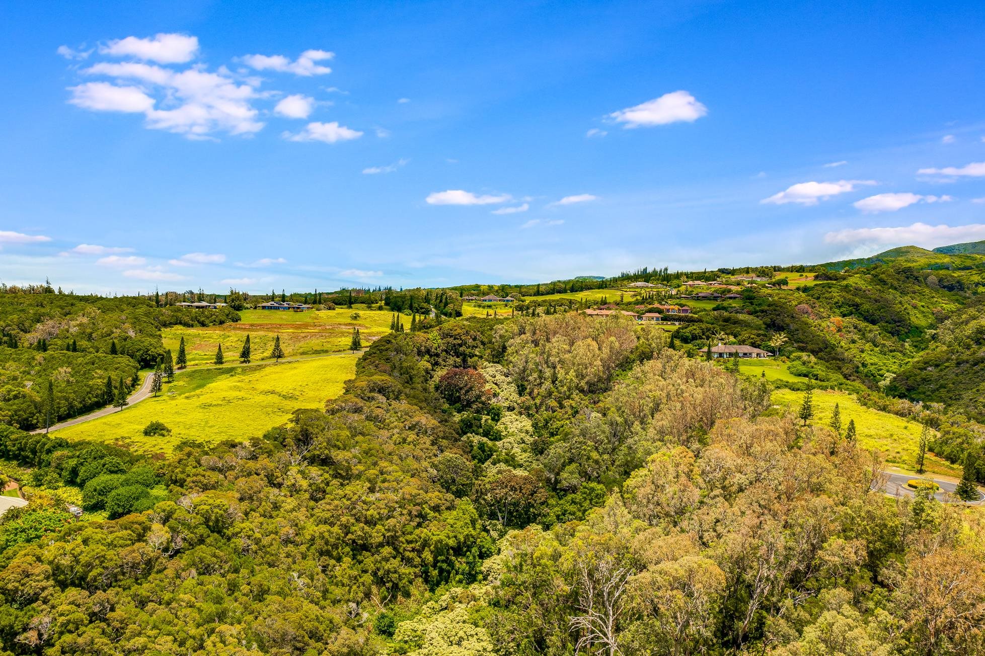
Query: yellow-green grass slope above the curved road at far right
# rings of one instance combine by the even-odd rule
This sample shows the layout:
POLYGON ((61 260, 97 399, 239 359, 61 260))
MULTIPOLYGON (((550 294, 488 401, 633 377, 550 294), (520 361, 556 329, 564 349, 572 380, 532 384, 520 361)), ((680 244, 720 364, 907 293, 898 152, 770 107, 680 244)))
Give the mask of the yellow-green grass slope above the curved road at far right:
MULTIPOLYGON (((768 375, 768 374, 767 374, 768 375)), ((778 389, 773 392, 773 404, 796 414, 804 401, 804 392, 778 389)), ((886 462, 907 471, 916 468, 917 445, 922 426, 901 417, 866 408, 852 394, 815 390, 814 419, 811 424, 828 426, 834 404, 841 412, 842 433, 849 420, 855 420, 859 446, 877 448, 886 455, 886 462)), ((961 475, 961 468, 932 453, 927 454, 925 468, 929 474, 961 475)))

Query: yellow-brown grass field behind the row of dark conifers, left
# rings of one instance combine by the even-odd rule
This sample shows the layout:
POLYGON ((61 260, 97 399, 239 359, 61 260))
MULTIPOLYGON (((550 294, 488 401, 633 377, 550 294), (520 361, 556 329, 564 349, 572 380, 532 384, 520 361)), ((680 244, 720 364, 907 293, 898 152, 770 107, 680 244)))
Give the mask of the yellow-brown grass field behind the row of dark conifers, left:
MULTIPOLYGON (((220 344, 227 362, 238 361, 247 335, 253 361, 270 358, 277 335, 281 336, 281 348, 286 358, 342 352, 349 348, 353 328, 360 329, 362 346, 368 346, 373 339, 390 332, 393 316, 390 312, 361 307, 364 306, 307 312, 242 310, 239 312, 241 320, 237 323, 205 328, 165 328, 162 331, 164 348, 177 355, 178 343, 184 337, 189 366, 212 364, 220 344), (359 313, 360 318, 353 319, 354 312, 359 313)), ((409 317, 404 318, 404 325, 410 328, 409 317)))

